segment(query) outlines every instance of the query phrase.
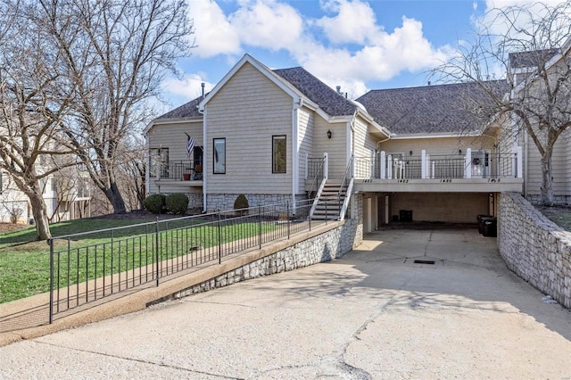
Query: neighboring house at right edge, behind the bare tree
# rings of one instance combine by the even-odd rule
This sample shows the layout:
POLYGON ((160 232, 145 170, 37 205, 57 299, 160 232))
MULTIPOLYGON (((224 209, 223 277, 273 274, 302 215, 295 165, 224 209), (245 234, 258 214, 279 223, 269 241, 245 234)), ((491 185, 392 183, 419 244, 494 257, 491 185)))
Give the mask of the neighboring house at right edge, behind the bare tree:
MULTIPOLYGON (((524 96, 530 102, 537 98, 539 99, 537 103, 544 106, 544 96, 548 95, 548 91, 542 79, 537 78, 538 64, 545 65, 542 70, 549 75, 550 90, 556 86, 560 87, 557 106, 566 114, 564 120, 567 123, 571 122, 571 37, 558 49, 509 54, 509 75, 514 86, 512 96, 524 96), (567 78, 567 80, 557 84, 556 78, 567 78)), ((536 131, 539 129, 537 125, 534 125, 534 128, 536 131)), ((511 130, 512 126, 508 125, 505 134, 507 136, 504 138, 523 147, 525 198, 531 202, 541 202, 542 156, 525 128, 513 128, 514 132, 511 130)), ((537 135, 544 138, 542 133, 537 135)), ((544 140, 542 145, 546 145, 544 140)), ((571 127, 559 136, 553 147, 551 160, 554 202, 569 204, 571 203, 571 127)))

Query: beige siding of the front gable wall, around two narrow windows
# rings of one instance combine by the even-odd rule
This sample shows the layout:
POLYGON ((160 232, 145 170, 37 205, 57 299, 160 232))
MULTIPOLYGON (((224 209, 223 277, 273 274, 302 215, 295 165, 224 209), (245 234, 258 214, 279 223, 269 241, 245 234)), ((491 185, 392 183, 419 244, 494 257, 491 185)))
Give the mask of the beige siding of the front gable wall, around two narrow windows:
POLYGON ((208 194, 291 194, 293 99, 250 63, 206 105, 208 194), (272 173, 272 136, 286 136, 286 173, 272 173), (226 174, 213 174, 213 139, 226 138, 226 174))

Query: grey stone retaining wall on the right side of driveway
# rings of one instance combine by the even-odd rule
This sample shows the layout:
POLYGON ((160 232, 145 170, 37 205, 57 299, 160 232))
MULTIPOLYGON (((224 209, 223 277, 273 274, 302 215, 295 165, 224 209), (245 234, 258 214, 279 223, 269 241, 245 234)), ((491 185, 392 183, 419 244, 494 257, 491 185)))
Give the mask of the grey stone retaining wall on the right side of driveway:
POLYGON ((498 248, 517 276, 571 308, 571 232, 551 222, 521 194, 502 193, 498 248))

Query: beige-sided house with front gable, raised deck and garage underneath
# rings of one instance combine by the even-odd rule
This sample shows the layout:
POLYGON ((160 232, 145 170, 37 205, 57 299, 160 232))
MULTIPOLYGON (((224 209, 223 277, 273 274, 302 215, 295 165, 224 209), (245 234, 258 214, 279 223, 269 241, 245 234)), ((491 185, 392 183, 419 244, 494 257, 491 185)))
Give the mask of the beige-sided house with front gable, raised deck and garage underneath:
MULTIPOLYGON (((492 82, 503 91, 501 82, 492 82)), ((356 101, 302 68, 246 54, 209 94, 145 128, 147 192, 228 210, 343 196, 364 232, 396 220, 474 222, 497 194, 522 191, 519 145, 501 152, 473 84, 375 90, 356 101), (476 115, 468 118, 468 114, 476 115), (188 147, 194 146, 192 151, 188 147)))

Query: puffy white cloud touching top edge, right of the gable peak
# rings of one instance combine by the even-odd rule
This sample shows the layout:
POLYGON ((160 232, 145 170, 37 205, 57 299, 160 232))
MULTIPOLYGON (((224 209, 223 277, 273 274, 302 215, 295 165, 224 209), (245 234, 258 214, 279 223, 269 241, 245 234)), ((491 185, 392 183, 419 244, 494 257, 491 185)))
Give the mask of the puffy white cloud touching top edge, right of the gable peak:
POLYGON ((335 17, 323 17, 315 21, 334 44, 364 44, 368 37, 379 33, 375 12, 368 3, 361 1, 332 0, 322 3, 322 8, 336 12, 335 17))

